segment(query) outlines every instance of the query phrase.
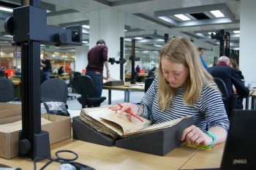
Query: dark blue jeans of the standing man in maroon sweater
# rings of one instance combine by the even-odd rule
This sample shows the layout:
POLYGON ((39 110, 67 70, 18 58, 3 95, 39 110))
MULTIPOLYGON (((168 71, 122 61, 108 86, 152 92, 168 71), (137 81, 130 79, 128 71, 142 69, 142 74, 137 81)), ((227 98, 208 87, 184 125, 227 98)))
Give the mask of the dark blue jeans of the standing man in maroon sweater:
POLYGON ((91 94, 90 96, 94 97, 100 97, 102 96, 102 88, 103 88, 103 74, 95 71, 86 71, 86 75, 91 77, 92 81, 94 82, 95 85, 95 93, 91 94))

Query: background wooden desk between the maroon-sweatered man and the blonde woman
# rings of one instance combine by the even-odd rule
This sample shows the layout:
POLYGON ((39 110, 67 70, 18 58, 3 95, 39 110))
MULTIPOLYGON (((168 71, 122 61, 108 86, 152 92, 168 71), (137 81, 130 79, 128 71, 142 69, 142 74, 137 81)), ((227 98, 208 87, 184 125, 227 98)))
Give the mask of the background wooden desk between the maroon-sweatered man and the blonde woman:
POLYGON ((111 90, 123 90, 124 91, 124 102, 129 102, 129 92, 130 91, 140 91, 144 92, 145 87, 135 85, 134 87, 125 84, 125 85, 116 85, 116 86, 106 86, 103 85, 103 89, 108 90, 108 104, 111 104, 111 90))

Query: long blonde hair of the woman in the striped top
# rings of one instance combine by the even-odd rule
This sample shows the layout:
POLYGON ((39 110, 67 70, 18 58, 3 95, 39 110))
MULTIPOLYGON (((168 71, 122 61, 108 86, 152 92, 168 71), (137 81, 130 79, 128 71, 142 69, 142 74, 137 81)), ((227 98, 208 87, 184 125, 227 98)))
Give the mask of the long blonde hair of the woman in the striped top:
POLYGON ((159 57, 159 93, 157 96, 159 109, 162 111, 166 109, 176 95, 176 88, 170 86, 162 72, 162 58, 167 58, 170 62, 181 63, 189 69, 189 77, 184 83, 184 102, 193 107, 203 87, 214 82, 211 74, 204 69, 195 45, 186 37, 176 37, 162 47, 159 57))

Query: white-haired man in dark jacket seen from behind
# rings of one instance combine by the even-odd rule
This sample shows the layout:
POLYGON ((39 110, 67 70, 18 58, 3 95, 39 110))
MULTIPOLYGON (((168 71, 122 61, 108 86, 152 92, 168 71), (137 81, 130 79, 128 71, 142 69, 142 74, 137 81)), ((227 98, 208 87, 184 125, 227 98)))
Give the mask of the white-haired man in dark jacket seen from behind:
POLYGON ((212 77, 218 77, 223 80, 227 86, 227 90, 229 93, 229 108, 230 111, 227 114, 230 114, 232 104, 233 104, 233 96, 234 90, 239 95, 236 102, 236 109, 242 109, 243 98, 249 95, 249 89, 245 87, 244 82, 241 81, 239 77, 239 73, 237 69, 231 68, 230 66, 230 58, 227 56, 222 56, 218 59, 217 66, 212 66, 208 68, 208 72, 212 75, 212 77))

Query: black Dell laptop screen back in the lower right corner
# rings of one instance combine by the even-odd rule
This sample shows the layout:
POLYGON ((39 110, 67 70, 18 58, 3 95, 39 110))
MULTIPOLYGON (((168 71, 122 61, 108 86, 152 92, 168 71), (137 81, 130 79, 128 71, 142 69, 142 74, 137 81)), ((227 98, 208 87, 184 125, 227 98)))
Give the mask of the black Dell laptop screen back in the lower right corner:
POLYGON ((256 110, 234 109, 230 119, 221 170, 255 169, 256 110))

